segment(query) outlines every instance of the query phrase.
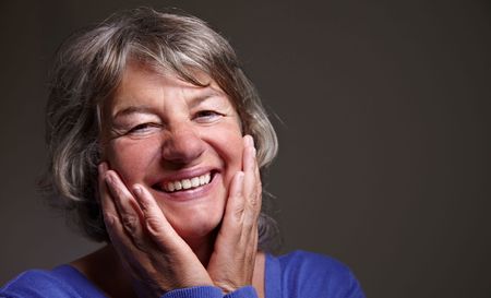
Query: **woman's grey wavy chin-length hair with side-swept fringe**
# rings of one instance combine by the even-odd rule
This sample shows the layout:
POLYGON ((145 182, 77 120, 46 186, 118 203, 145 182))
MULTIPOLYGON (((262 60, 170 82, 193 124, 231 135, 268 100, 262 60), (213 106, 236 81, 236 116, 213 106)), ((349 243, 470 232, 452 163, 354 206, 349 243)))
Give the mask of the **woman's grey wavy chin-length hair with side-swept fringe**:
MULTIPOLYGON (((137 61, 202 85, 206 73, 235 105, 251 134, 263 174, 277 153, 276 133, 261 99, 227 40, 200 19, 147 8, 123 11, 71 36, 59 49, 47 105, 48 165, 39 181, 67 218, 95 241, 109 241, 97 194, 98 105, 109 98, 129 61, 137 61)), ((263 194, 267 194, 264 193, 263 194)), ((263 204, 271 200, 263 195, 263 204)), ((278 227, 263 210, 260 249, 278 248, 278 227)))

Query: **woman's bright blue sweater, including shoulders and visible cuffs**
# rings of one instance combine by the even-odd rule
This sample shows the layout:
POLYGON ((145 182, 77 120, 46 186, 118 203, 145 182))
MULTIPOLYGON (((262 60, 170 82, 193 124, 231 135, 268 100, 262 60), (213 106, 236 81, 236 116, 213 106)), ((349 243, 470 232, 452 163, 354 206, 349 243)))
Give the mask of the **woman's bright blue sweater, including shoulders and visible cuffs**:
MULTIPOLYGON (((266 298, 364 298, 357 279, 344 264, 315 253, 296 251, 266 255, 266 298)), ((70 265, 51 271, 31 270, 5 284, 0 297, 104 298, 104 294, 70 265)), ((247 286, 226 296, 217 287, 193 287, 167 293, 161 298, 256 298, 247 286)))

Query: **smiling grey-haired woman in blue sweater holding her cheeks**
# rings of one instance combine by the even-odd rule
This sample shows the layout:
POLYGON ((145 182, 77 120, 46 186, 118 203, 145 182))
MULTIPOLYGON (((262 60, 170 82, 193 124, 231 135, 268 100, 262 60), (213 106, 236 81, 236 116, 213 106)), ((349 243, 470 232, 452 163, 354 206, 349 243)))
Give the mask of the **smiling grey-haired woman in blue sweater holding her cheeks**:
POLYGON ((228 43, 193 16, 137 9, 61 48, 44 187, 107 246, 28 271, 5 297, 363 297, 347 267, 273 257, 261 170, 276 135, 228 43))

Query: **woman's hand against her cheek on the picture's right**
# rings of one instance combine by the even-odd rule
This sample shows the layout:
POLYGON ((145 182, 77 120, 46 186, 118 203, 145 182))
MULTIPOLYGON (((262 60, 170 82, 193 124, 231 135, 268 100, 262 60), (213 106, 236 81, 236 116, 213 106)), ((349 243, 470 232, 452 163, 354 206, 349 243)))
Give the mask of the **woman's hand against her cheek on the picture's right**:
POLYGON ((252 136, 243 138, 242 170, 235 175, 224 219, 207 265, 214 284, 225 293, 252 284, 258 252, 261 177, 252 136))

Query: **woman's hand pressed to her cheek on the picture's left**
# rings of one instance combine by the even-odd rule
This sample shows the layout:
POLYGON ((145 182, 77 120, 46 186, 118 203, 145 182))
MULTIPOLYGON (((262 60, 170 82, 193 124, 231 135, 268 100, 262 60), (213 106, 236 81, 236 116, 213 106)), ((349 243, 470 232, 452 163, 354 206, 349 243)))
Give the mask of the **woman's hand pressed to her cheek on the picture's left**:
POLYGON ((213 286, 206 269, 145 188, 136 184, 130 192, 106 163, 99 165, 98 183, 107 231, 140 297, 213 286))

